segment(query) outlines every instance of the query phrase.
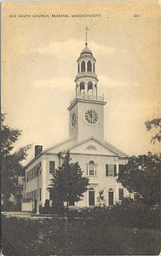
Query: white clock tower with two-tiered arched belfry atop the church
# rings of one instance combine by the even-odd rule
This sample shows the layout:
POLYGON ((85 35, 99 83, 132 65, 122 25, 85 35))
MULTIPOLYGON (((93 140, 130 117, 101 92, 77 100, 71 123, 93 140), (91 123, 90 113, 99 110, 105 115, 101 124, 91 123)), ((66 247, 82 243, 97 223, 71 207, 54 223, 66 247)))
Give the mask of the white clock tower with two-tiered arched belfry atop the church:
POLYGON ((104 96, 97 95, 99 79, 95 74, 95 57, 88 47, 85 47, 78 57, 78 74, 76 96, 70 103, 69 133, 76 137, 79 143, 89 137, 95 137, 104 142, 104 96))

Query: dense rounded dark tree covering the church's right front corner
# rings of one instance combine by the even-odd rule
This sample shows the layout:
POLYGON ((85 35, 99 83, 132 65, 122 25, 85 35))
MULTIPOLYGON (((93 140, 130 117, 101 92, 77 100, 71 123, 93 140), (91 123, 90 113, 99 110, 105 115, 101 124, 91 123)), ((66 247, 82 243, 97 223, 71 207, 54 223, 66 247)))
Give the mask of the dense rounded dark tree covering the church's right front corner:
POLYGON ((152 207, 160 204, 161 154, 131 156, 127 165, 122 166, 118 182, 129 193, 137 192, 139 200, 152 207))

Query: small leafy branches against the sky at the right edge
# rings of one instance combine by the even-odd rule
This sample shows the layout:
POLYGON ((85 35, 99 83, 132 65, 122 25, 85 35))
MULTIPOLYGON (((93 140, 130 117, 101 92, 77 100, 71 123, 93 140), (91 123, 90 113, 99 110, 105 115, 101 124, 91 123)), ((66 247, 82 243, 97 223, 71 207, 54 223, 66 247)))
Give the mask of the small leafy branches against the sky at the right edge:
POLYGON ((156 128, 159 129, 158 133, 152 137, 151 143, 155 143, 156 141, 158 141, 159 143, 161 142, 161 118, 156 118, 156 119, 152 119, 152 120, 147 120, 145 122, 145 125, 147 127, 147 131, 151 131, 152 128, 156 128))

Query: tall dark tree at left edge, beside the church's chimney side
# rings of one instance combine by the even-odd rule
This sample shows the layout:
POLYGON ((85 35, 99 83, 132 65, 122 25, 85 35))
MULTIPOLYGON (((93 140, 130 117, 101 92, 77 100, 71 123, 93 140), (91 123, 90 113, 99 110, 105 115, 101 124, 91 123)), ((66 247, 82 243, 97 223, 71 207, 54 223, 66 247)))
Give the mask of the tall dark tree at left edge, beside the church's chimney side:
POLYGON ((18 181, 19 176, 24 176, 25 172, 21 162, 26 160, 27 150, 31 145, 19 148, 18 151, 12 153, 14 143, 16 143, 21 135, 20 130, 14 130, 8 125, 4 125, 5 114, 1 114, 1 163, 2 163, 2 197, 3 205, 7 205, 9 197, 13 195, 21 195, 22 186, 18 181))

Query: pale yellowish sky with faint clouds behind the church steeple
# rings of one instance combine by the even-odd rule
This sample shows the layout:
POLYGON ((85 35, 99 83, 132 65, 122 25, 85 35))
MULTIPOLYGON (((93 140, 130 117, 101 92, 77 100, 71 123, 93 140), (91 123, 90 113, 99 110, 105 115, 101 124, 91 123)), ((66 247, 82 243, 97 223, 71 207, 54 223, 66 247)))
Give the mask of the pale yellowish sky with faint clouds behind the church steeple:
POLYGON ((107 102, 106 141, 129 155, 157 152, 144 123, 160 114, 159 15, 155 1, 3 3, 2 112, 22 130, 14 150, 32 143, 31 160, 35 145, 69 137, 67 108, 88 26, 98 95, 107 102))

